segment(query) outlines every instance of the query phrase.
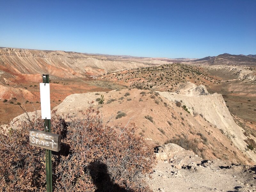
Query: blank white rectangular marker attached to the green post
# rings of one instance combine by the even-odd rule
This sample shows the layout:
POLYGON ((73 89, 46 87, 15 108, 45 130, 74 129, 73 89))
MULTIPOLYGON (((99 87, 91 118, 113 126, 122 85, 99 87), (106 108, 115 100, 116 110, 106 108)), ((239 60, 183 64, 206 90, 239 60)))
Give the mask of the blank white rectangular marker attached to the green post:
POLYGON ((51 119, 50 84, 40 83, 40 100, 42 119, 51 119))

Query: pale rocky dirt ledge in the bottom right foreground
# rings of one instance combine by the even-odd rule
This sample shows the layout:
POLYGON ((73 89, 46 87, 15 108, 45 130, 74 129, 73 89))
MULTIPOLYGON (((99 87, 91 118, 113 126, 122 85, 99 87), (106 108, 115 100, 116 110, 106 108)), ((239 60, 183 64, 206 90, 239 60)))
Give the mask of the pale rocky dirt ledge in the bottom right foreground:
POLYGON ((146 179, 154 192, 256 191, 255 166, 203 160, 172 143, 159 147, 156 157, 158 163, 146 179))

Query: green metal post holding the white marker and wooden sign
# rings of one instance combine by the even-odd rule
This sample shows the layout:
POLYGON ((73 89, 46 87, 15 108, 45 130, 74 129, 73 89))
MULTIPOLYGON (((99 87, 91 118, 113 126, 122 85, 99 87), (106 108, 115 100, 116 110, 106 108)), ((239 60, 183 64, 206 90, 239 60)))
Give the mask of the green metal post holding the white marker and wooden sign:
MULTIPOLYGON (((43 75, 43 83, 50 83, 49 75, 43 75)), ((44 119, 44 131, 51 132, 51 119, 44 119)), ((45 149, 46 189, 52 192, 52 151, 45 149)))

